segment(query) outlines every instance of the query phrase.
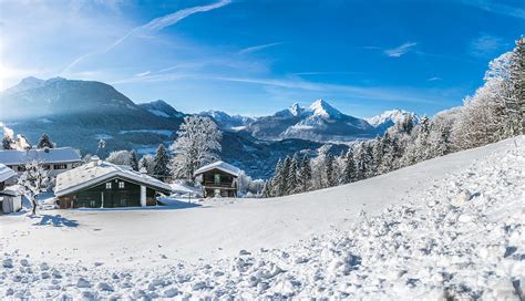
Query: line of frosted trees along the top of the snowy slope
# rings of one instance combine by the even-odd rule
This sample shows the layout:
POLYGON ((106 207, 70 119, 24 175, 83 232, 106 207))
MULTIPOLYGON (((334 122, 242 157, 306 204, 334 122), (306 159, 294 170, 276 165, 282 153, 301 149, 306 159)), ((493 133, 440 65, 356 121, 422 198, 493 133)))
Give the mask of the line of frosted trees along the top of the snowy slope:
POLYGON ((424 116, 409 115, 375 139, 356 142, 344 154, 325 145, 313 158, 296 154, 279 160, 265 197, 349 184, 453 152, 525 134, 525 38, 493 60, 484 84, 463 106, 424 116))

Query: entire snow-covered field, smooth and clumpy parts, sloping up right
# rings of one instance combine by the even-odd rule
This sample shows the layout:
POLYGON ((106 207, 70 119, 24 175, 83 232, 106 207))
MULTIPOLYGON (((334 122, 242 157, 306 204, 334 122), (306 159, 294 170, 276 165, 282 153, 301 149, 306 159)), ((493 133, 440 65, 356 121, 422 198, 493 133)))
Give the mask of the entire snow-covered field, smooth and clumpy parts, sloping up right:
POLYGON ((0 298, 519 300, 525 137, 268 200, 0 217, 0 298))

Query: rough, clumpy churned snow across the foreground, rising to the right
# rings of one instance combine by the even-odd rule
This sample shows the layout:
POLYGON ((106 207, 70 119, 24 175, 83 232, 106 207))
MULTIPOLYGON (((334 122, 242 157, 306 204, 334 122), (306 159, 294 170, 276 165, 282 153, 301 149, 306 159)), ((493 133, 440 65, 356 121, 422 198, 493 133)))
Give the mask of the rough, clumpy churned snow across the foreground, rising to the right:
MULTIPOLYGON (((430 180, 425 189, 410 191, 405 201, 378 215, 360 208, 359 221, 281 249, 240 250, 235 257, 197 264, 165 260, 162 267, 141 269, 103 262, 65 264, 54 253, 44 262, 25 257, 27 250, 7 251, 0 295, 517 300, 522 293, 523 298, 523 137, 516 144, 507 141, 434 164, 446 165, 451 157, 471 157, 471 166, 430 180)), ((418 167, 413 169, 416 174, 418 167)))

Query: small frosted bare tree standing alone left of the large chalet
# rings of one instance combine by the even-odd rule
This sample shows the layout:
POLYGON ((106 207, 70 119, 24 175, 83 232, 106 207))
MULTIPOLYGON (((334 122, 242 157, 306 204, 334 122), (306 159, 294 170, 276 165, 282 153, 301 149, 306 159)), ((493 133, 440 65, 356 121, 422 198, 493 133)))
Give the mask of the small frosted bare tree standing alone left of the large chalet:
POLYGON ((37 214, 37 197, 48 189, 49 172, 37 160, 24 165, 24 172, 20 175, 18 184, 23 188, 25 196, 31 200, 32 214, 37 214))

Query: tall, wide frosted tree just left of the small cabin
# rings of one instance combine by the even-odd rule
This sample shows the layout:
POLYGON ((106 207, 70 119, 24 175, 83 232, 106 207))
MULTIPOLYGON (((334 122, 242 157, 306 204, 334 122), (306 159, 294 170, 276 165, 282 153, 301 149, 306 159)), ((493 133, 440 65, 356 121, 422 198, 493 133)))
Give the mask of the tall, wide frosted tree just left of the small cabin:
POLYGON ((177 135, 177 139, 172 145, 175 152, 172 162, 174 177, 191 180, 200 166, 219 159, 223 133, 209 117, 184 117, 177 135))

